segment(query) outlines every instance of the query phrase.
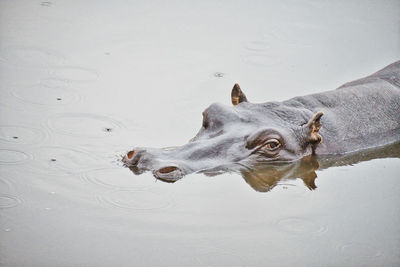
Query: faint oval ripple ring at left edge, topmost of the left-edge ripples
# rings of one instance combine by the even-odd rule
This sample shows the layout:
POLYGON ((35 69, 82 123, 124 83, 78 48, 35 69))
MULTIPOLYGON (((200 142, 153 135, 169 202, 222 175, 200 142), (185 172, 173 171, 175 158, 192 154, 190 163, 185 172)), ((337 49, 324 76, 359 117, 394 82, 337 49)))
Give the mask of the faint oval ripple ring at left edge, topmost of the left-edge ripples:
POLYGON ((0 60, 18 67, 53 67, 60 65, 64 57, 44 47, 9 46, 0 51, 0 60))

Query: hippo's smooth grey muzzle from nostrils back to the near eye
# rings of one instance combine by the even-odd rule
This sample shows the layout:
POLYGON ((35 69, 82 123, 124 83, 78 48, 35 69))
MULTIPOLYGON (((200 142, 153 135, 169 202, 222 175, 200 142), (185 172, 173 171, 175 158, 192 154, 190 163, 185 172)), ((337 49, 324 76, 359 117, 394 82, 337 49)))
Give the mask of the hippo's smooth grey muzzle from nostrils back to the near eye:
POLYGON ((156 178, 173 182, 192 172, 239 162, 250 154, 242 140, 220 136, 167 149, 134 148, 122 161, 135 173, 152 171, 156 178))

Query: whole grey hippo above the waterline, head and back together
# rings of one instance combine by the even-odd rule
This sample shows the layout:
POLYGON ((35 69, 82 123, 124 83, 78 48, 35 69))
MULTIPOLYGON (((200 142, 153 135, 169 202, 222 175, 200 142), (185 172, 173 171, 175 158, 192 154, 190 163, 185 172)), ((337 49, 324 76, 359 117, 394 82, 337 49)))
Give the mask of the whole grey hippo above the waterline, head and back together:
POLYGON ((345 154, 400 140, 400 61, 336 90, 283 102, 255 104, 235 85, 233 106, 214 103, 187 144, 175 149, 134 148, 123 162, 163 180, 239 164, 292 162, 345 154))

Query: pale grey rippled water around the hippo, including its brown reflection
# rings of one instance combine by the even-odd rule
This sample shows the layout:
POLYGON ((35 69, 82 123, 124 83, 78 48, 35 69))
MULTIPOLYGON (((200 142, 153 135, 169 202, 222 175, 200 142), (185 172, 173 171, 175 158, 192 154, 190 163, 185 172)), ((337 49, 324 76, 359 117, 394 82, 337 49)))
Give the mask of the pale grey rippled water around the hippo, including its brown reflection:
POLYGON ((398 266, 399 148, 175 183, 119 155, 400 58, 399 1, 0 3, 0 265, 398 266), (316 178, 317 177, 317 178, 316 178))

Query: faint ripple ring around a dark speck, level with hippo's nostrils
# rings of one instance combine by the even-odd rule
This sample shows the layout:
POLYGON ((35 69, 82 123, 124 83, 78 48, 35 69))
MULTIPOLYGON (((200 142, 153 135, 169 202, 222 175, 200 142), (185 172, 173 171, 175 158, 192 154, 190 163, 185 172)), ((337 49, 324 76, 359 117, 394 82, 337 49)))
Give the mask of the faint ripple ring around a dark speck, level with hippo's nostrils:
POLYGON ((48 146, 35 149, 31 171, 40 174, 71 175, 99 168, 99 160, 79 149, 48 146))

